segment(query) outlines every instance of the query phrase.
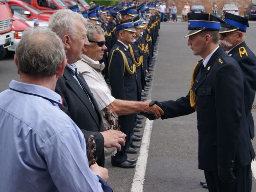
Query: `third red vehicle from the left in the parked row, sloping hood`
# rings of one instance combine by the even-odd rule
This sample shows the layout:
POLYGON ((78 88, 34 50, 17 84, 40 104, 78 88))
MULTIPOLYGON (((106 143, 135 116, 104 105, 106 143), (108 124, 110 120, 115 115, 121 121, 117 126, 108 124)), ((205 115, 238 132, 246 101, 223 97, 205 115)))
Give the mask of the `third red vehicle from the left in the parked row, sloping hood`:
POLYGON ((39 19, 49 21, 51 15, 45 14, 39 9, 29 5, 22 0, 9 0, 9 6, 19 14, 25 15, 29 19, 39 19))

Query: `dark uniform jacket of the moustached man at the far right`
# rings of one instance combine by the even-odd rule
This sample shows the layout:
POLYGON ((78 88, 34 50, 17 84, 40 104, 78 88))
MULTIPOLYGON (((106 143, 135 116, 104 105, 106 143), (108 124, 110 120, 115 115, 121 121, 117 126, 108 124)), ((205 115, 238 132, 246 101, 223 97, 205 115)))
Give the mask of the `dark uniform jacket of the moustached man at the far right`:
POLYGON ((252 104, 256 92, 256 56, 247 47, 245 42, 241 42, 234 47, 229 56, 234 58, 241 67, 245 78, 245 112, 247 125, 250 131, 251 139, 254 138, 254 121, 252 117, 252 104))

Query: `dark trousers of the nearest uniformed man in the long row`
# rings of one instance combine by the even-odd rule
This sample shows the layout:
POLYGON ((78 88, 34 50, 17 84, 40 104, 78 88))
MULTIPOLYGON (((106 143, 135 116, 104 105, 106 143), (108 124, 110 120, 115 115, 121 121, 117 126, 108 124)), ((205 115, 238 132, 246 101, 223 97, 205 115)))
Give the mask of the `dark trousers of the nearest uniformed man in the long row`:
POLYGON ((122 163, 127 159, 126 149, 129 147, 131 132, 133 131, 134 118, 136 114, 123 115, 118 117, 120 131, 126 134, 125 146, 121 145, 121 150, 118 151, 113 158, 115 163, 122 163))

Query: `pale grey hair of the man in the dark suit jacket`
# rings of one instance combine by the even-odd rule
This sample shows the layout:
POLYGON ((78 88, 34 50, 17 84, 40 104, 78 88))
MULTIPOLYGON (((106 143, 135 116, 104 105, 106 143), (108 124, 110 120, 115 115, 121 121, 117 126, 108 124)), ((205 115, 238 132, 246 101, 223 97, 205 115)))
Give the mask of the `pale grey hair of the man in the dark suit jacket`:
POLYGON ((60 9, 55 12, 49 20, 49 28, 54 31, 61 39, 68 34, 72 39, 75 38, 75 21, 81 21, 84 25, 87 21, 81 14, 70 9, 60 9))

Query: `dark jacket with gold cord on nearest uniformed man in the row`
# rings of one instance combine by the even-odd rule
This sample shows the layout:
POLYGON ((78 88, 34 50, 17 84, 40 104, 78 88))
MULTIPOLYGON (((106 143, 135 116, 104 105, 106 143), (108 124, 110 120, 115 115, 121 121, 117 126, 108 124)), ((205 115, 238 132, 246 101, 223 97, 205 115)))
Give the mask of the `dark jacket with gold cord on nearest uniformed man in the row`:
POLYGON ((120 100, 138 100, 139 93, 136 73, 128 73, 120 50, 125 54, 130 69, 132 69, 134 63, 129 50, 126 49, 122 43, 117 41, 110 51, 109 56, 109 74, 112 95, 114 98, 120 100))

